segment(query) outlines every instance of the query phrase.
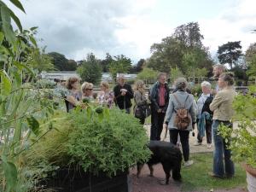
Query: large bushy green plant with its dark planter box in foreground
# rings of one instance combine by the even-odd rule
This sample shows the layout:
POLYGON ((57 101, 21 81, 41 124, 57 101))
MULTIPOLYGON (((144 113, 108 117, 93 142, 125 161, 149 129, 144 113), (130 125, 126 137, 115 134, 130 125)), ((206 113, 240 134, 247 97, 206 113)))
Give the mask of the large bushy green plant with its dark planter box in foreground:
POLYGON ((26 154, 26 162, 60 167, 40 184, 61 191, 130 191, 129 167, 150 155, 143 125, 119 109, 90 104, 59 116, 56 131, 26 154))

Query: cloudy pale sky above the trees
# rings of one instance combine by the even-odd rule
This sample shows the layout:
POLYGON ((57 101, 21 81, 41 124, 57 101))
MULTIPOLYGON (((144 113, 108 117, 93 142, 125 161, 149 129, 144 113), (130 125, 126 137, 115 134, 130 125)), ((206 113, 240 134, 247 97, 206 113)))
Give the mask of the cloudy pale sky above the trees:
MULTIPOLYGON (((3 1, 10 5, 6 0, 3 1)), ((256 42, 255 0, 20 0, 14 8, 22 26, 38 26, 40 46, 68 59, 88 53, 104 59, 125 55, 137 63, 150 46, 171 36, 177 26, 198 22, 203 44, 216 57, 218 46, 241 41, 245 51, 256 42)), ((12 7, 10 5, 10 7, 12 7)), ((13 8, 13 7, 12 7, 13 8)))

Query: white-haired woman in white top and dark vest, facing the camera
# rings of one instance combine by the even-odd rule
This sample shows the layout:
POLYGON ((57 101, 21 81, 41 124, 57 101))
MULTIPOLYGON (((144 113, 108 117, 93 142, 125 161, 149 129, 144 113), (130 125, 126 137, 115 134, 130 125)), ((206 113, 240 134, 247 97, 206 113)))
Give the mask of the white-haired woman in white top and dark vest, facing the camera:
POLYGON ((202 94, 197 100, 197 142, 195 145, 201 145, 202 138, 207 135, 207 148, 212 147, 212 111, 210 104, 213 99, 211 84, 207 81, 201 83, 202 94))

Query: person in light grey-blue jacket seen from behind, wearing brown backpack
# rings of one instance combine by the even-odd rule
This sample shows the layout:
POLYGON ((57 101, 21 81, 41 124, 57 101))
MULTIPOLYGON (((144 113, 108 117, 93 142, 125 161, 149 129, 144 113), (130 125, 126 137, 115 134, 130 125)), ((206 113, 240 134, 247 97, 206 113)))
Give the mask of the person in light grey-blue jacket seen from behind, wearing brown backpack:
POLYGON ((188 82, 184 78, 179 78, 176 80, 177 91, 170 96, 169 105, 166 112, 166 119, 164 128, 168 128, 170 131, 170 142, 177 144, 177 136, 180 136, 182 149, 183 149, 183 158, 184 166, 190 166, 193 164, 193 160, 189 160, 189 131, 192 131, 192 128, 195 128, 195 108, 193 106, 194 96, 189 94, 186 91, 188 82), (178 129, 178 125, 175 123, 177 116, 177 110, 180 108, 187 109, 189 113, 189 125, 186 129, 178 129))

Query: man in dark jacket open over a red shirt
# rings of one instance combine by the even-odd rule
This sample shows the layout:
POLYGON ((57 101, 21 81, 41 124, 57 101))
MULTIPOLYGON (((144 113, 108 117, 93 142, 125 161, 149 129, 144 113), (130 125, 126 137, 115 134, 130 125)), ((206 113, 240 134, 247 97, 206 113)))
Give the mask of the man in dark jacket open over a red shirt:
POLYGON ((169 88, 166 83, 166 73, 158 75, 158 81, 150 90, 151 100, 151 131, 150 140, 160 141, 161 132, 169 103, 169 88))

